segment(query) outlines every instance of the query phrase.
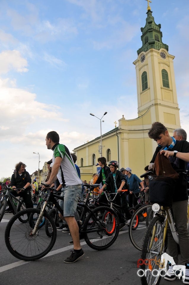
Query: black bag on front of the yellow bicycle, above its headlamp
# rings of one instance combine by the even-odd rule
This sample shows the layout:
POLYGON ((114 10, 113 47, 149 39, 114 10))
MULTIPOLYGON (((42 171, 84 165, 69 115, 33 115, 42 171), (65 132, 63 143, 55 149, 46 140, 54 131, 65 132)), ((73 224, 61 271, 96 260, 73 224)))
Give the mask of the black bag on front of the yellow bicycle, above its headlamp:
POLYGON ((167 176, 149 176, 148 178, 150 202, 171 207, 175 180, 167 176))

